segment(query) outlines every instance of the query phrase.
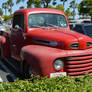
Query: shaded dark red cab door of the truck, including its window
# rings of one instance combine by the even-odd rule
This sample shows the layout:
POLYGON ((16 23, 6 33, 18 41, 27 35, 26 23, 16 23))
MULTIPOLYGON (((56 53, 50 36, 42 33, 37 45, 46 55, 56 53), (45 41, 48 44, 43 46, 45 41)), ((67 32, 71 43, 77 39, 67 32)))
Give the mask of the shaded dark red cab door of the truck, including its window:
POLYGON ((14 15, 13 28, 11 31, 11 54, 15 59, 20 59, 20 51, 24 46, 25 18, 24 14, 14 15))

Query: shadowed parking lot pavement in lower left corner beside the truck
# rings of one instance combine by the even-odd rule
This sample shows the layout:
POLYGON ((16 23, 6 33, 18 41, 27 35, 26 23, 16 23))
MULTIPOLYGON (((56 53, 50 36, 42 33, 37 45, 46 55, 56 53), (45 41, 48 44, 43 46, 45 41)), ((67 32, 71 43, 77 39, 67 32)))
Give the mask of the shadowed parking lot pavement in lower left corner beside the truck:
POLYGON ((12 82, 19 77, 17 70, 10 67, 12 64, 7 64, 7 61, 0 59, 0 82, 12 82))

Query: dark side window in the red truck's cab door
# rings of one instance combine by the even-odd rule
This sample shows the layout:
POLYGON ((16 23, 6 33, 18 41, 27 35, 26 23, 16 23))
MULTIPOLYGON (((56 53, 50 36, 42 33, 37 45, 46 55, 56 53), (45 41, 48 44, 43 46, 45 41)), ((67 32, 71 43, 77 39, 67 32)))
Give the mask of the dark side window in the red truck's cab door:
POLYGON ((24 14, 14 15, 13 28, 15 25, 19 25, 23 30, 25 29, 24 14))

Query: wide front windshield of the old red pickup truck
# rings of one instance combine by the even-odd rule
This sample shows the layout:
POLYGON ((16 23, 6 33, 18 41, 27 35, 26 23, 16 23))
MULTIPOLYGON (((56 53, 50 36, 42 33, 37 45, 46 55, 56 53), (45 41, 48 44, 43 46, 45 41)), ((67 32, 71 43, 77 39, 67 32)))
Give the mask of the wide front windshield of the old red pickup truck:
POLYGON ((68 26, 65 17, 60 14, 30 14, 28 24, 29 28, 68 26))

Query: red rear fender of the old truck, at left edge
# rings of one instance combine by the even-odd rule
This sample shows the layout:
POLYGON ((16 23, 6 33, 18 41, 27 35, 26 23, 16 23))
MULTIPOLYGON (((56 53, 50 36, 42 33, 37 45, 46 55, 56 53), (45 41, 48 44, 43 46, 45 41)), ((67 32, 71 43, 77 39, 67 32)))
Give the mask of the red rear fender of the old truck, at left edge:
POLYGON ((5 36, 0 36, 0 49, 3 57, 9 57, 10 54, 10 41, 5 36))

